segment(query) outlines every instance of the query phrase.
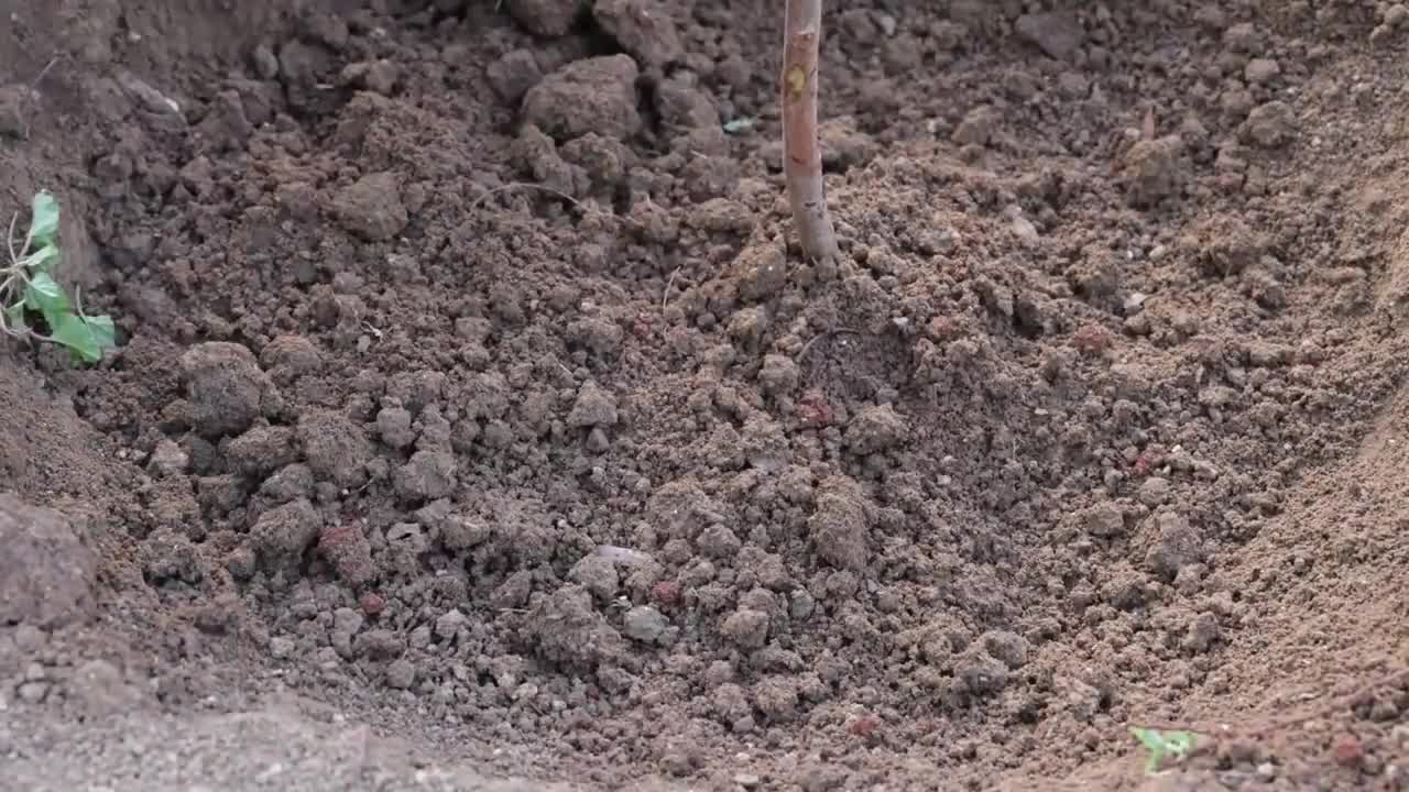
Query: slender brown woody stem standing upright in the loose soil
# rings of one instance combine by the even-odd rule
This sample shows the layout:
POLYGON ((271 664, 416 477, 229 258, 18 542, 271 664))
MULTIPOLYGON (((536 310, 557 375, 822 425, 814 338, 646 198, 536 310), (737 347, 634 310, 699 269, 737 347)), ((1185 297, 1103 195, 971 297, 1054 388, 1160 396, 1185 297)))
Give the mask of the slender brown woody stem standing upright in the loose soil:
POLYGON ((783 13, 783 175, 788 203, 812 259, 837 258, 837 234, 827 214, 817 142, 817 51, 821 42, 821 0, 786 0, 783 13))

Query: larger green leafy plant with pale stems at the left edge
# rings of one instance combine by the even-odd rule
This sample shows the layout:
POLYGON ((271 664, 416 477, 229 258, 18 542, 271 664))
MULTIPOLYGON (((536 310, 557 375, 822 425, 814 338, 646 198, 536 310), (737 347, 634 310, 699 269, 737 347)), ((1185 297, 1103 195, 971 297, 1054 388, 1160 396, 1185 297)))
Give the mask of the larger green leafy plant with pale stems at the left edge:
POLYGON ((85 314, 83 303, 70 302, 54 279, 59 264, 59 202, 46 190, 35 193, 23 241, 14 234, 18 221, 15 213, 6 235, 8 264, 0 268, 0 306, 4 306, 0 330, 15 338, 68 347, 77 362, 101 361, 103 351, 116 345, 113 320, 85 314), (48 334, 37 330, 37 320, 44 321, 48 334))

